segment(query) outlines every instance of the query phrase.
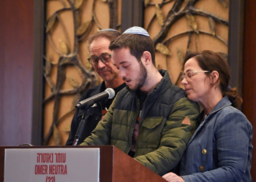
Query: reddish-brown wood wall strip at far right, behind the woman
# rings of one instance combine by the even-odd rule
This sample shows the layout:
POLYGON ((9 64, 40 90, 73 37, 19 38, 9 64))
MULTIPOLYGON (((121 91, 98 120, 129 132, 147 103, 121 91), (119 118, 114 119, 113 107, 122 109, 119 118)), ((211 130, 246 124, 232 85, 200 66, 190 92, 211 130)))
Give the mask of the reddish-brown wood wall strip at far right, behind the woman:
MULTIPOLYGON (((256 128, 256 1, 244 1, 244 68, 243 68, 243 112, 254 129, 256 128)), ((256 132, 252 145, 256 146, 256 132)), ((252 151, 253 181, 256 181, 256 150, 252 151)))

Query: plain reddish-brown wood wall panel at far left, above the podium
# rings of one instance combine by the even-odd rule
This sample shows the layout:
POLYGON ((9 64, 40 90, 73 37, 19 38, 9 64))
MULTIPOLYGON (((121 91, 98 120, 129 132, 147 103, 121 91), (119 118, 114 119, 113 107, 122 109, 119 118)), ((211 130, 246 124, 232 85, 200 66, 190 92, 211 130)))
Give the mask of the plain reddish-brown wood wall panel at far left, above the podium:
POLYGON ((1 0, 0 145, 31 142, 34 0, 1 0))

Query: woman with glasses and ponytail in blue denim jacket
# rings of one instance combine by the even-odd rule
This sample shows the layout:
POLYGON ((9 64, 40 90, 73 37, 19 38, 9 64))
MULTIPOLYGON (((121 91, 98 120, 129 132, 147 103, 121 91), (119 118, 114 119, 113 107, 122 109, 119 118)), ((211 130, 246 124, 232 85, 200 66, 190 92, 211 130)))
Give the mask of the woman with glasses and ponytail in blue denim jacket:
POLYGON ((181 159, 180 176, 167 173, 167 181, 252 181, 252 124, 237 109, 242 99, 228 85, 225 60, 216 52, 189 54, 181 84, 190 100, 203 111, 197 130, 181 159))

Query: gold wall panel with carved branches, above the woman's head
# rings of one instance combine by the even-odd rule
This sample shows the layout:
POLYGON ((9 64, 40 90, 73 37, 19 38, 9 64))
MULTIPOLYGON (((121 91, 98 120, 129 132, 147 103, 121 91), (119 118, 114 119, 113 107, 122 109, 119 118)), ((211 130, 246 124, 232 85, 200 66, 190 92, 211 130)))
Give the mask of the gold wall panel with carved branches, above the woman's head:
POLYGON ((182 61, 184 60, 186 52, 212 50, 227 55, 230 1, 227 0, 225 2, 227 3, 227 7, 224 7, 219 1, 211 0, 196 1, 190 6, 188 6, 187 1, 176 0, 162 3, 161 0, 151 0, 148 6, 145 7, 143 27, 146 28, 155 44, 162 43, 170 51, 169 55, 162 54, 158 50, 156 51, 156 66, 157 68, 169 71, 170 79, 173 84, 183 88, 180 76, 182 72, 182 61), (156 5, 159 8, 156 8, 156 5), (173 9, 173 7, 177 8, 174 10, 176 13, 172 14, 170 13, 170 9, 173 9), (206 11, 208 15, 199 15, 192 12, 192 7, 194 9, 200 9, 198 11, 206 11), (159 20, 157 16, 155 16, 156 9, 161 9, 162 17, 165 20, 164 25, 159 24, 159 20), (191 32, 192 27, 189 25, 185 13, 181 13, 183 11, 191 13, 192 17, 195 18, 194 23, 198 33, 191 32), (216 30, 214 32, 216 36, 213 36, 209 26, 208 17, 212 15, 218 17, 217 20, 214 20, 214 28, 216 30), (170 20, 172 23, 168 24, 167 20, 170 20), (220 20, 224 21, 221 22, 220 20), (167 28, 169 26, 170 30, 167 28), (166 36, 165 33, 162 32, 167 32, 166 36), (163 38, 160 39, 159 37, 163 38))

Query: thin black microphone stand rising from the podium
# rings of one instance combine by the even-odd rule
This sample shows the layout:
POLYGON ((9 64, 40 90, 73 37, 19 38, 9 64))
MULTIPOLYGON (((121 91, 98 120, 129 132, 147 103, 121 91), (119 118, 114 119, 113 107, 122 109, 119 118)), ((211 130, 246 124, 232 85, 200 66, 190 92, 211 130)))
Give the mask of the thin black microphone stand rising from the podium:
POLYGON ((83 113, 83 116, 81 118, 80 124, 78 126, 78 130, 75 133, 75 140, 73 142, 73 146, 78 146, 81 141, 81 136, 83 134, 83 130, 86 126, 87 119, 89 118, 89 107, 94 104, 94 100, 90 100, 89 103, 86 104, 86 111, 83 113))

